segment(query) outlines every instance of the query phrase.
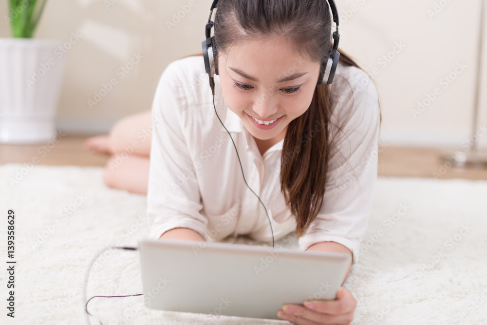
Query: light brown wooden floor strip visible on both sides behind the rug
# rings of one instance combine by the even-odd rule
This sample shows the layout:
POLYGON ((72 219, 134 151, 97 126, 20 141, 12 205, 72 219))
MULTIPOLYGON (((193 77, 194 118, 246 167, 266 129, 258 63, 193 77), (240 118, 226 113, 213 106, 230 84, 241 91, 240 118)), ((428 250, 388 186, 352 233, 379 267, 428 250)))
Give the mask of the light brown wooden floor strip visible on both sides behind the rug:
MULTIPOLYGON (((67 135, 58 143, 33 145, 0 144, 0 164, 32 163, 34 165, 104 166, 110 155, 91 153, 84 149, 88 136, 67 135), (37 158, 37 159, 36 159, 37 158)), ((380 176, 413 176, 487 180, 487 169, 456 168, 440 159, 454 150, 433 148, 380 147, 380 176)))

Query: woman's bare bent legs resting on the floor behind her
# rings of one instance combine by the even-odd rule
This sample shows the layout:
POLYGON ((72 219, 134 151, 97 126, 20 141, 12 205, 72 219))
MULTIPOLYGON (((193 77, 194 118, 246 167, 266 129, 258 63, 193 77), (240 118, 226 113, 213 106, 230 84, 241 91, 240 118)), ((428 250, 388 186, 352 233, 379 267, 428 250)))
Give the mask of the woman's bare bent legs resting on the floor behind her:
POLYGON ((129 115, 117 121, 110 134, 85 141, 90 151, 112 154, 103 172, 107 186, 147 194, 151 123, 150 110, 129 115))

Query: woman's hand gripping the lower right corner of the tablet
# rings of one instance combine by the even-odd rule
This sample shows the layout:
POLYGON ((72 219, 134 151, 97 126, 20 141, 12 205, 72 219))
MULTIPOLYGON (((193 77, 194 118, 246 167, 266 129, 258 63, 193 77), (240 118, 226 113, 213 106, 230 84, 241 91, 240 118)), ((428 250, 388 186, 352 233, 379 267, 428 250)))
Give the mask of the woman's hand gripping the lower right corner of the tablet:
MULTIPOLYGON (((306 301, 308 302, 308 301, 306 301)), ((278 316, 298 325, 350 324, 354 320, 357 300, 350 292, 340 287, 335 300, 312 300, 314 306, 285 304, 278 316), (286 307, 292 307, 287 311, 286 307), (281 314, 282 313, 282 314, 281 314), (284 317, 287 315, 287 318, 284 317)))

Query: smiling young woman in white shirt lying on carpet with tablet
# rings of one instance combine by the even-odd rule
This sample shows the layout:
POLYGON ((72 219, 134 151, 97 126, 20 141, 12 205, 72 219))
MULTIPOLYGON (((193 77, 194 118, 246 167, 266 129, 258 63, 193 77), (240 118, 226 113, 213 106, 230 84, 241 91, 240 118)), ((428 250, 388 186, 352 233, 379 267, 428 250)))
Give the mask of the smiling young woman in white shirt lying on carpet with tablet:
MULTIPOLYGON (((270 242, 295 231, 302 250, 350 254, 348 277, 377 178, 372 81, 341 53, 333 83, 318 84, 327 1, 221 0, 213 28, 214 97, 202 56, 170 63, 151 112, 87 142, 117 153, 105 181, 147 190, 153 238, 270 242)), ((340 288, 335 301, 283 309, 295 324, 349 324, 356 304, 340 288)))

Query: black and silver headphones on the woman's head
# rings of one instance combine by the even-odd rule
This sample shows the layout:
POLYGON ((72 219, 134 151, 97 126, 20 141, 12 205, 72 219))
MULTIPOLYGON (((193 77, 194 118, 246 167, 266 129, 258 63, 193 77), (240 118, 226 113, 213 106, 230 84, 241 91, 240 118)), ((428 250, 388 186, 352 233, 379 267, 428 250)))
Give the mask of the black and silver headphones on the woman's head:
MULTIPOLYGON (((338 50, 338 42, 340 40, 340 35, 338 34, 338 11, 337 5, 334 0, 327 0, 330 5, 330 9, 333 15, 333 21, 337 24, 337 31, 333 33, 333 47, 330 57, 325 62, 321 62, 321 71, 318 77, 318 85, 323 84, 326 80, 326 84, 331 84, 333 82, 333 77, 335 76, 335 71, 337 70, 338 60, 340 58, 340 53, 338 50)), ((205 61, 206 73, 210 77, 210 87, 213 95, 215 94, 215 83, 213 81, 213 75, 218 75, 218 67, 214 64, 213 58, 217 55, 217 50, 214 46, 214 38, 211 37, 211 28, 213 27, 213 21, 211 21, 211 15, 213 14, 213 9, 216 8, 218 0, 214 0, 210 8, 210 16, 208 17, 208 22, 205 26, 205 36, 206 39, 202 42, 203 47, 203 59, 205 61)))

